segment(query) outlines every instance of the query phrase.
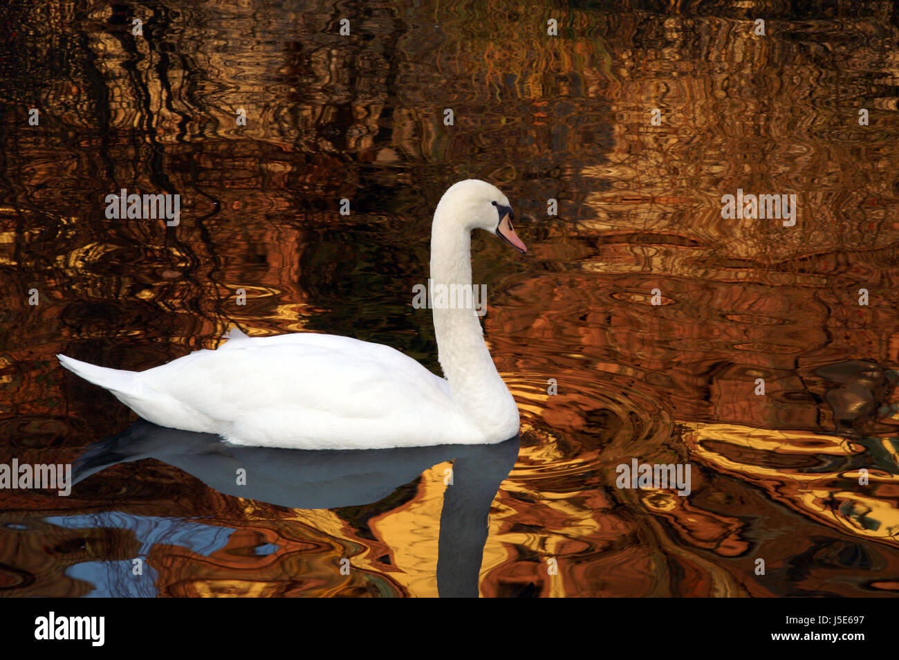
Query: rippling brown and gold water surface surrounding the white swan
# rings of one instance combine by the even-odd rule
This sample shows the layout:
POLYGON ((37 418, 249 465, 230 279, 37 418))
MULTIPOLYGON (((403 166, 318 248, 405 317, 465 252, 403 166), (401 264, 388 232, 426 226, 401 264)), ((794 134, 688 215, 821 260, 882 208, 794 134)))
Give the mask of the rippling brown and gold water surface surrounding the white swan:
POLYGON ((895 595, 899 13, 816 5, 6 4, 0 462, 81 480, 0 494, 2 593, 895 595), (238 325, 439 370, 410 291, 467 177, 530 248, 473 240, 518 441, 233 448, 55 360, 143 370, 238 325), (121 188, 181 194, 180 225, 107 219, 121 188), (722 219, 737 189, 797 224, 722 219), (632 459, 689 462, 690 495, 616 487, 632 459))

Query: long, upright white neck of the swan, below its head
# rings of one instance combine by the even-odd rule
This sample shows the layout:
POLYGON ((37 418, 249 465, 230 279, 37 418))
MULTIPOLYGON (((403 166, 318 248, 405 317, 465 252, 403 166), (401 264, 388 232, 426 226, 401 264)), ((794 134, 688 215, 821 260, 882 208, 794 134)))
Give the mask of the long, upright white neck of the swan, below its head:
MULTIPOLYGON (((499 424, 503 415, 518 412, 512 395, 494 366, 484 342, 479 317, 473 308, 438 305, 441 285, 471 288, 471 232, 452 211, 438 205, 431 232, 431 293, 434 331, 443 374, 449 380, 453 401, 482 428, 499 424), (511 409, 510 409, 511 406, 511 409)), ((480 292, 481 287, 477 291, 480 292)), ((473 299, 486 305, 484 299, 473 299)), ((508 424, 508 420, 504 420, 508 424)))

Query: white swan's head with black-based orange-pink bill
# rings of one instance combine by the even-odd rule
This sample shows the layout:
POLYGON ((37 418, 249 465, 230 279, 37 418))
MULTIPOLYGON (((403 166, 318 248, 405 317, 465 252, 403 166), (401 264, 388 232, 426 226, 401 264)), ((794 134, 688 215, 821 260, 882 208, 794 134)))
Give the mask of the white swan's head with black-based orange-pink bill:
POLYGON ((492 183, 466 179, 453 184, 437 205, 437 212, 441 211, 464 223, 468 231, 484 229, 503 238, 521 254, 528 251, 512 228, 515 215, 509 198, 492 183))

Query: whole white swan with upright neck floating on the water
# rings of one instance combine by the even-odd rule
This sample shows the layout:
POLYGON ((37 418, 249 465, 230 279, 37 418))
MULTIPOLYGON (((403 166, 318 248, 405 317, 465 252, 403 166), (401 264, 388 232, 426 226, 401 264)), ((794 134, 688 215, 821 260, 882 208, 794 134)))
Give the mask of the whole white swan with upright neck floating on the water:
MULTIPOLYGON (((443 194, 431 231, 432 290, 471 289, 471 230, 527 248, 509 200, 468 179, 443 194)), ((292 449, 384 449, 499 442, 519 431, 515 401, 496 371, 473 308, 433 305, 445 379, 389 346, 334 334, 248 337, 146 371, 58 355, 149 422, 235 444, 292 449), (439 308, 440 307, 440 308, 439 308)))

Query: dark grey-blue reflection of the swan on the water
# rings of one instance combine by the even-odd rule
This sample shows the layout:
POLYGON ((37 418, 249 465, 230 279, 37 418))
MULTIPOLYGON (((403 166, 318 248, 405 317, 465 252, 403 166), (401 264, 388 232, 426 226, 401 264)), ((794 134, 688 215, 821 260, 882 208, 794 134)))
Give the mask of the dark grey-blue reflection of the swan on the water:
POLYGON ((73 482, 117 463, 159 459, 220 493, 295 509, 333 509, 378 502, 426 469, 454 460, 452 485, 443 496, 437 586, 443 597, 476 597, 490 504, 518 450, 518 436, 491 445, 389 450, 245 447, 141 420, 85 450, 73 482), (246 470, 245 486, 236 484, 238 468, 246 470))

